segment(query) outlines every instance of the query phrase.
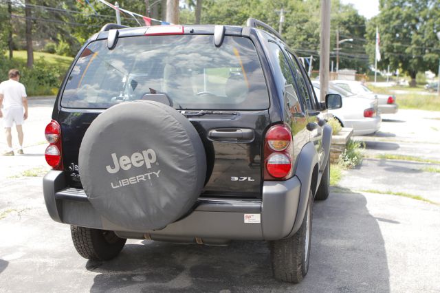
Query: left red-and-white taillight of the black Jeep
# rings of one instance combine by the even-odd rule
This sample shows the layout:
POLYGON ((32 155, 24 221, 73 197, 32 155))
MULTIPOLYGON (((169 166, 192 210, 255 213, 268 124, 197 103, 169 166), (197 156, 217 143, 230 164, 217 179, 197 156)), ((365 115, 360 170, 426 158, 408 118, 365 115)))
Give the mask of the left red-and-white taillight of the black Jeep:
POLYGON ((63 170, 63 162, 61 160, 61 127, 58 122, 52 120, 47 124, 44 131, 47 142, 46 151, 44 153, 47 164, 55 170, 63 170))

